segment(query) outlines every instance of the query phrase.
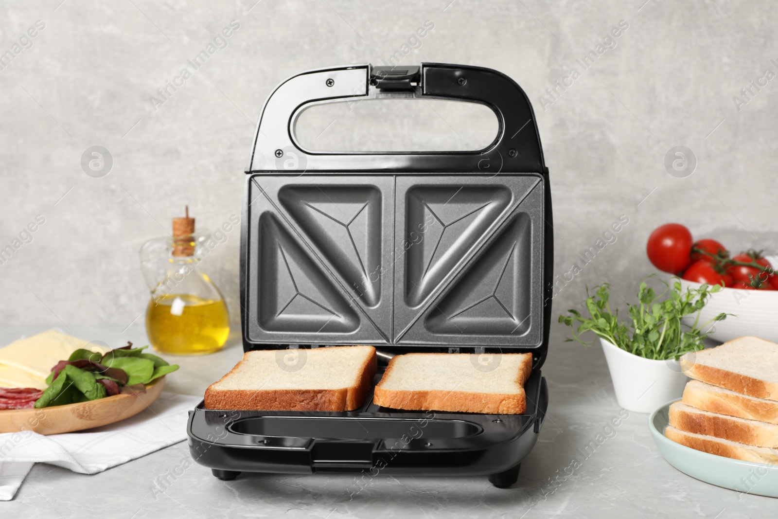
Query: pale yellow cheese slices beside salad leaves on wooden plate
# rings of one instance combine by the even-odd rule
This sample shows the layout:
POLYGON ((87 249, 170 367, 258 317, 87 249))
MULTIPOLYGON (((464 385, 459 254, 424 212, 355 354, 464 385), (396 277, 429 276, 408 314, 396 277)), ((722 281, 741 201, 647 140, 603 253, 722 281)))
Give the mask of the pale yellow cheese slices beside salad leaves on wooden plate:
POLYGON ((49 330, 28 338, 20 338, 0 348, 0 364, 22 371, 33 377, 45 379, 51 368, 60 360, 67 360, 76 349, 106 353, 105 348, 88 343, 80 338, 65 335, 61 331, 49 330))

